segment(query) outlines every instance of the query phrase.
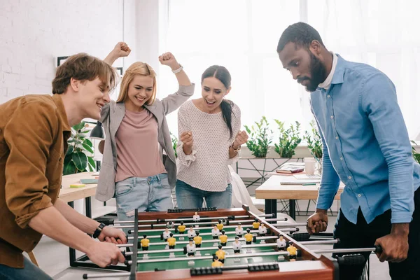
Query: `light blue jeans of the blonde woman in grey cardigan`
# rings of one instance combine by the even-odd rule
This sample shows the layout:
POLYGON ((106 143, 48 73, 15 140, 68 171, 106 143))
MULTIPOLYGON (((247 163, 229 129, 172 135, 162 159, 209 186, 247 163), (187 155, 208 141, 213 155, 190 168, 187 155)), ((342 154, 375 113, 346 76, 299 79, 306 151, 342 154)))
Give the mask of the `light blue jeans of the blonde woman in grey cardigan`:
MULTIPOLYGON (((147 178, 130 177, 116 183, 119 221, 133 221, 134 209, 139 212, 167 211, 174 208, 172 190, 166 173, 147 178)), ((126 232, 127 233, 127 232, 126 232)))

